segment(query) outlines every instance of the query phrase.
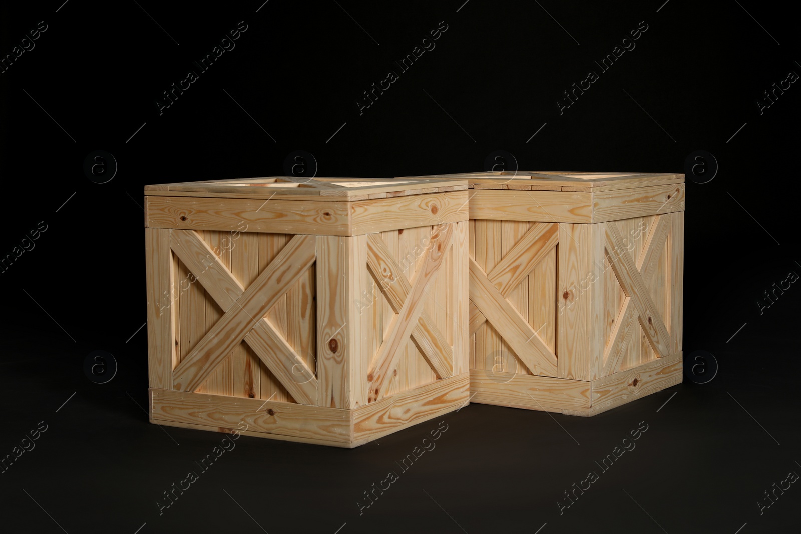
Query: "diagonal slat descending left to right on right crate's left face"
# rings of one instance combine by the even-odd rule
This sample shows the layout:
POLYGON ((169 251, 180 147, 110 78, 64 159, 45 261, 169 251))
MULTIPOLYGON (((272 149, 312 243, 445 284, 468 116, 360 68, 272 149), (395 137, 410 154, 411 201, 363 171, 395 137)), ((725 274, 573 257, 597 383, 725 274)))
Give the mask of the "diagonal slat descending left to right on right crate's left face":
POLYGON ((518 358, 537 375, 555 375, 557 358, 537 332, 509 304, 481 267, 470 260, 470 299, 487 317, 489 323, 503 325, 504 340, 518 358))

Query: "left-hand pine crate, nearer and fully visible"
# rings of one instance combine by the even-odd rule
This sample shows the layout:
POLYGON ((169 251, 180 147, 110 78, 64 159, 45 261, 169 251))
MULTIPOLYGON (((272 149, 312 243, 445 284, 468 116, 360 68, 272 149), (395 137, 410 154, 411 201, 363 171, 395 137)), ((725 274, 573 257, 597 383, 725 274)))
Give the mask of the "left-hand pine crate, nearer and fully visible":
POLYGON ((145 187, 151 422, 352 448, 467 404, 467 195, 145 187))

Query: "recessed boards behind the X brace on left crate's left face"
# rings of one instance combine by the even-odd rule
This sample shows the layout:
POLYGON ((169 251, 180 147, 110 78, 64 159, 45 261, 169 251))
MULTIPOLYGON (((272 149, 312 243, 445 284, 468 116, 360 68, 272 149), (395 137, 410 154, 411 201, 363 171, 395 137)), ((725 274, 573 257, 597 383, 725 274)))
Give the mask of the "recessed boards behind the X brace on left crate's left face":
MULTIPOLYGON (((213 253, 228 273, 217 269, 217 264, 211 263, 210 257, 202 255, 199 259, 195 259, 199 265, 195 265, 193 271, 183 263, 175 250, 171 250, 175 272, 171 303, 175 313, 173 371, 224 315, 212 292, 203 287, 199 278, 216 269, 219 271, 218 275, 228 275, 247 289, 293 237, 293 235, 252 232, 171 231, 170 240, 183 241, 187 236, 195 240, 197 251, 201 251, 205 245, 207 255, 213 253)), ((182 252, 184 250, 178 243, 174 243, 173 247, 179 248, 182 252)), ((312 264, 283 295, 278 296, 276 303, 264 315, 272 330, 292 348, 294 355, 303 360, 312 375, 316 371, 315 285, 315 265, 312 264)), ((294 355, 284 354, 290 358, 294 355)), ((300 371, 300 367, 296 367, 294 371, 300 371)), ((297 382, 308 378, 300 373, 290 377, 297 382)), ((203 380, 195 391, 211 395, 297 402, 287 387, 284 387, 281 380, 244 340, 237 343, 222 361, 211 369, 207 379, 203 380)))

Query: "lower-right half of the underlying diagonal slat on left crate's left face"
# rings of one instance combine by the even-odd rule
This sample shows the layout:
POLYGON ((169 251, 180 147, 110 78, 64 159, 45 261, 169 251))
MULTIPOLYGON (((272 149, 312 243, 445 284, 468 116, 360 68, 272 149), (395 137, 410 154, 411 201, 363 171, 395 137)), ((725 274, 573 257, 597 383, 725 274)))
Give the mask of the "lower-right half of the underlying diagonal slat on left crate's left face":
POLYGON ((245 335, 245 342, 256 352, 289 395, 298 404, 317 404, 317 380, 303 358, 289 357, 296 352, 269 323, 262 319, 245 335))

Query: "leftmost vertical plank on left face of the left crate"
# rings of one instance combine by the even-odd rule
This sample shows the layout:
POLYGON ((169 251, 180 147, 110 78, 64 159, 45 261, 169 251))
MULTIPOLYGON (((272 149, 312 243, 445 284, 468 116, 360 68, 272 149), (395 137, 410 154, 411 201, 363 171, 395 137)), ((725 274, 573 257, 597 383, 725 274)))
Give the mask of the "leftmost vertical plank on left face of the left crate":
POLYGON ((167 231, 145 229, 147 376, 150 387, 172 389, 175 364, 173 263, 167 231))

